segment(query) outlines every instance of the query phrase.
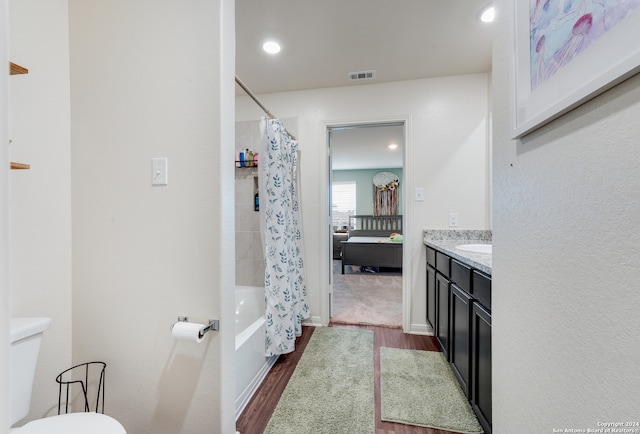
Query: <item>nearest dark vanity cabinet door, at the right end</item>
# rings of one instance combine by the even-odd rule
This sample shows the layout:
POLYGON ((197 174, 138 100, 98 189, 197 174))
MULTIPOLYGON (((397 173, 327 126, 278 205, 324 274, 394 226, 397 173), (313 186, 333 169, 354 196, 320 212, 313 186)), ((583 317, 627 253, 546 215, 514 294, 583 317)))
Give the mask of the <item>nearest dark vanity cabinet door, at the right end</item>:
POLYGON ((474 302, 471 318, 471 406, 491 434, 491 314, 474 302))

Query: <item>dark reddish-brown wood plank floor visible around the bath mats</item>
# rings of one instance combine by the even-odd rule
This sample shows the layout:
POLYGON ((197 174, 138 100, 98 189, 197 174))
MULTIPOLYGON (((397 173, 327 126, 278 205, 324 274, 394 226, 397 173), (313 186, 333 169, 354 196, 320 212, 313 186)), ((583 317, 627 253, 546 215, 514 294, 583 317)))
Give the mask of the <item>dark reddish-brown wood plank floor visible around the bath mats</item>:
MULTIPOLYGON (((380 347, 439 351, 438 343, 433 336, 409 335, 402 333, 401 329, 376 326, 332 324, 331 327, 371 330, 374 333, 376 434, 455 434, 450 431, 383 422, 380 418, 380 347)), ((293 353, 280 356, 278 362, 271 368, 236 422, 236 429, 241 434, 262 434, 264 432, 271 414, 278 404, 280 395, 291 378, 314 329, 314 327, 304 327, 302 336, 296 341, 296 350, 293 353)))

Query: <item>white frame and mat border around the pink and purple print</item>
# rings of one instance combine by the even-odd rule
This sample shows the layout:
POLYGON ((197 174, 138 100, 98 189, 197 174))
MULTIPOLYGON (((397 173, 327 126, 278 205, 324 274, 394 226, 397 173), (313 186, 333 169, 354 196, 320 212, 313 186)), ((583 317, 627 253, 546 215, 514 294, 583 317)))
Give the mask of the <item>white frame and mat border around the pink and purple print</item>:
POLYGON ((512 139, 522 138, 640 71, 639 7, 532 90, 530 4, 529 0, 512 4, 512 139))

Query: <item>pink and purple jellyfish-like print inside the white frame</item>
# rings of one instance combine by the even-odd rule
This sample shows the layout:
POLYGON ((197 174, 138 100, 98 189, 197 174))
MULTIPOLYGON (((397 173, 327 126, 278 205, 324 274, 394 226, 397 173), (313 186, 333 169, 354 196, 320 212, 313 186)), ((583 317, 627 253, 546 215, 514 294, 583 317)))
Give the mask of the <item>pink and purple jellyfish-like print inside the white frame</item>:
POLYGON ((640 0, 529 0, 531 90, 639 6, 640 0))

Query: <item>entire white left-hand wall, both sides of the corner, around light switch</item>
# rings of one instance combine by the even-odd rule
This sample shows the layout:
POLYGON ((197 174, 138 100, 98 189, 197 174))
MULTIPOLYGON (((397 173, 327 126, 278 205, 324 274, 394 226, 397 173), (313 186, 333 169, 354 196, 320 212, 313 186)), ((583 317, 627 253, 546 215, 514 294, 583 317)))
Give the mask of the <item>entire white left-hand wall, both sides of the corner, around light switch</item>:
MULTIPOLYGON (((9 174, 2 148, 0 335, 10 315, 53 318, 27 420, 56 412, 61 370, 98 359, 129 432, 233 432, 233 23, 231 0, 11 2, 2 41, 30 73, 11 78, 10 104, 0 75, 0 136, 32 169, 9 174), (167 187, 149 185, 154 156, 169 157, 167 187), (179 314, 221 331, 175 342, 179 314)), ((2 344, 2 432, 7 364, 2 344)))

